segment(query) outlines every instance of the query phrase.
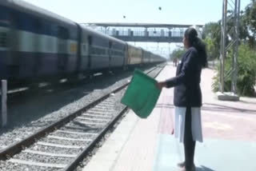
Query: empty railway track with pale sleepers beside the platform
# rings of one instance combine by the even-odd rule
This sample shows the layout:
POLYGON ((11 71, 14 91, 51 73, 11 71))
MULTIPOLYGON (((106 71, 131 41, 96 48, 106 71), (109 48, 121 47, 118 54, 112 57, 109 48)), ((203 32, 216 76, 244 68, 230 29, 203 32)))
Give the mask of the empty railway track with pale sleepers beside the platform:
MULTIPOLYGON (((157 66, 147 74, 156 77, 163 67, 157 66)), ((67 171, 76 168, 126 111, 126 106, 114 107, 128 84, 0 151, 0 170, 67 171)))

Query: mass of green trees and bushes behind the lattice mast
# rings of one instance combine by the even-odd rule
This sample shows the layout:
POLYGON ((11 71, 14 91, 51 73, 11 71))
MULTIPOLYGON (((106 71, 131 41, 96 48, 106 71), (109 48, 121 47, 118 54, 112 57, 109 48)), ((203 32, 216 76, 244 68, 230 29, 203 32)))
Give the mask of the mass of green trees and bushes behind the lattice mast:
MULTIPOLYGON (((213 55, 220 49, 221 42, 221 20, 216 23, 206 24, 203 38, 206 42, 208 54, 213 55), (216 49, 214 49, 216 48, 216 49)), ((234 14, 228 11, 226 30, 228 32, 226 45, 230 43, 229 38, 234 38, 234 14)), ((256 0, 251 0, 246 9, 241 12, 239 25, 239 48, 238 48, 238 94, 244 96, 254 95, 256 81, 256 0)), ((232 68, 234 49, 228 50, 225 62, 225 75, 232 68)), ((216 55, 216 54, 215 54, 216 55)), ((231 77, 227 77, 224 91, 231 89, 231 77)), ((219 90, 219 66, 218 74, 214 78, 214 91, 219 90)))

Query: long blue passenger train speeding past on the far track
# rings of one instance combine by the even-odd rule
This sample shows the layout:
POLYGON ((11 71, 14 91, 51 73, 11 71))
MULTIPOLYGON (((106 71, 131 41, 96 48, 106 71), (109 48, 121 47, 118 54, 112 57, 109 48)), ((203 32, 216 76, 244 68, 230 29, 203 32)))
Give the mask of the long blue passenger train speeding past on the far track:
POLYGON ((22 0, 0 1, 0 78, 67 78, 165 62, 22 0))

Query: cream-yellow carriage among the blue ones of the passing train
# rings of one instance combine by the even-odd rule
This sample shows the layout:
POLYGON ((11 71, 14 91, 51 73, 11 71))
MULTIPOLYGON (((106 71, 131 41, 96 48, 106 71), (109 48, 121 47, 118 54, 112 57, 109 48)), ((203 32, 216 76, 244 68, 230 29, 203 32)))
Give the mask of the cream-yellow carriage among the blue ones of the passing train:
POLYGON ((142 64, 142 49, 131 46, 130 44, 127 44, 128 46, 128 66, 140 66, 142 64))

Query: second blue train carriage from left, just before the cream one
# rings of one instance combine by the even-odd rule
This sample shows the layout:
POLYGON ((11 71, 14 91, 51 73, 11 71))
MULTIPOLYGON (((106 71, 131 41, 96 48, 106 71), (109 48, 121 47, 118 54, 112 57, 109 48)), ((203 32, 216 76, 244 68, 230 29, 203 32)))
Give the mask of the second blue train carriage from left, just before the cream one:
POLYGON ((81 26, 81 71, 110 71, 125 65, 126 43, 81 26))

